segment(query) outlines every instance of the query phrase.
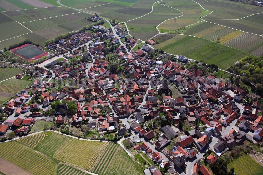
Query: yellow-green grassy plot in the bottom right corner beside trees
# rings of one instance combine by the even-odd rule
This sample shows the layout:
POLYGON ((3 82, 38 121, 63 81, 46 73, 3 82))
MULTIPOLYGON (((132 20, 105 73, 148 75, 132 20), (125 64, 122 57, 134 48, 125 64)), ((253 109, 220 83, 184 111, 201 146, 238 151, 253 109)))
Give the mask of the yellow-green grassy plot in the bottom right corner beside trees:
POLYGON ((263 172, 263 167, 246 154, 243 154, 242 156, 239 156, 229 162, 227 164, 227 168, 234 168, 234 172, 237 175, 260 175, 263 172))

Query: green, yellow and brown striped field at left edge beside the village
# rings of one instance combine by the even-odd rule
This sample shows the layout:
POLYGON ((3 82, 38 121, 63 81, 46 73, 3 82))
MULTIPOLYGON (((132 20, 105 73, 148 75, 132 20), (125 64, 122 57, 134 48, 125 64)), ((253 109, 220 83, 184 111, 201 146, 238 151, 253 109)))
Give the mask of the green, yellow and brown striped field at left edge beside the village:
POLYGON ((28 86, 31 81, 18 80, 15 78, 0 83, 0 104, 2 105, 10 97, 28 86))

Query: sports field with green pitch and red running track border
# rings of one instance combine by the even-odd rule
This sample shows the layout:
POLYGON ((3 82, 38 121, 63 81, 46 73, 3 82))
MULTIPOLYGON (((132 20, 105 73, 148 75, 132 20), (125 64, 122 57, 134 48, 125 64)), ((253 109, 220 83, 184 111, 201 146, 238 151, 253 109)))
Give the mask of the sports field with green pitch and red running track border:
POLYGON ((32 44, 24 44, 22 46, 16 47, 11 49, 11 52, 27 61, 37 60, 48 54, 47 51, 44 51, 32 44))

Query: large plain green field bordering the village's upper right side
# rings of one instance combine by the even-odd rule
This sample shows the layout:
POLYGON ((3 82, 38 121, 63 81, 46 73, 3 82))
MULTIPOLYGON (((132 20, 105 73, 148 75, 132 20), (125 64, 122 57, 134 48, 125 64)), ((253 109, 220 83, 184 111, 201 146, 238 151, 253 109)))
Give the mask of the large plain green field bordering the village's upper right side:
POLYGON ((154 47, 171 54, 184 55, 193 60, 204 60, 207 64, 216 64, 224 70, 249 55, 222 44, 184 35, 176 35, 163 43, 154 45, 154 47))

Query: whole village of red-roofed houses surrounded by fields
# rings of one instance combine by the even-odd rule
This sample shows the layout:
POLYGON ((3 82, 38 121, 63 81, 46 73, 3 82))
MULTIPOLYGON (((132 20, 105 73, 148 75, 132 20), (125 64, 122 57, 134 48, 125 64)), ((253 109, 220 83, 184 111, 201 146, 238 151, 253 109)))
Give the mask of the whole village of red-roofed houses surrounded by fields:
POLYGON ((209 164, 262 140, 260 103, 248 90, 211 65, 153 49, 154 40, 138 42, 120 24, 101 24, 48 44, 50 60, 16 75, 33 83, 2 106, 1 140, 43 123, 42 130, 122 141, 145 175, 211 174, 209 164))

